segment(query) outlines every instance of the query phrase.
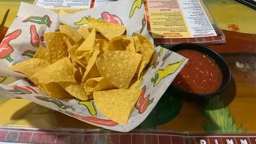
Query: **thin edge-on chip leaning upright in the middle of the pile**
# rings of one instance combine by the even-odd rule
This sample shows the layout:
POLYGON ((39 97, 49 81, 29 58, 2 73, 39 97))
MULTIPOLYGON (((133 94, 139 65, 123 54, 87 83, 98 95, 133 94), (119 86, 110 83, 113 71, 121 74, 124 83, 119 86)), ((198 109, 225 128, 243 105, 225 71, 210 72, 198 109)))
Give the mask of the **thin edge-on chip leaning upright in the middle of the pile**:
POLYGON ((89 72, 93 65, 95 64, 95 61, 97 59, 98 54, 100 53, 99 45, 95 46, 94 52, 92 53, 90 59, 88 60, 88 65, 86 66, 86 71, 84 73, 82 83, 85 83, 89 79, 89 72))

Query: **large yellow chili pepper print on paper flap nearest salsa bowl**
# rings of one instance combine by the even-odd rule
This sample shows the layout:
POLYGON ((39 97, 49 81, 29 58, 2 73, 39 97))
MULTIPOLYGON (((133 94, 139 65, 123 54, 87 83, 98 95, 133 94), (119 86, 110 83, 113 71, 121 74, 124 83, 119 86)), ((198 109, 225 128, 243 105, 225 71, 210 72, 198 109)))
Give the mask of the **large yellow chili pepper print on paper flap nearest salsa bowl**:
POLYGON ((166 66, 165 69, 159 69, 155 72, 155 78, 153 77, 151 79, 151 82, 153 83, 153 86, 156 86, 162 79, 167 77, 168 75, 173 74, 176 72, 176 70, 182 65, 183 61, 186 58, 183 58, 181 61, 169 64, 166 66))

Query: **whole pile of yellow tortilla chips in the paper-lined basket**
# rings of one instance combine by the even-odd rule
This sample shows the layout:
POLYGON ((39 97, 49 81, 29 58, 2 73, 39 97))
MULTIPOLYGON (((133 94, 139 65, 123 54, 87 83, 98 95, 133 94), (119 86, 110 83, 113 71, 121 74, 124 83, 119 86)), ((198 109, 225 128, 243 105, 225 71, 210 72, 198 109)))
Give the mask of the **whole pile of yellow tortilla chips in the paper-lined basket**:
POLYGON ((140 34, 123 35, 126 27, 89 18, 88 27, 44 33, 43 46, 32 59, 10 66, 51 98, 94 99, 109 119, 126 124, 141 94, 141 79, 154 47, 140 34))

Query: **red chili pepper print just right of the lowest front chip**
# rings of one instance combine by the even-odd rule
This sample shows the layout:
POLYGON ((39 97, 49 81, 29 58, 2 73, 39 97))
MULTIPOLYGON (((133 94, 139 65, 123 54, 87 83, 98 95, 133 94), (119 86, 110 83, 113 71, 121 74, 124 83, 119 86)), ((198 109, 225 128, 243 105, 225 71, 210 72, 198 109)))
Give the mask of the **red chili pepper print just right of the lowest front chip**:
POLYGON ((148 108, 148 105, 150 105, 154 101, 154 98, 149 100, 150 94, 148 94, 147 97, 144 98, 144 94, 146 92, 146 85, 144 85, 141 90, 142 90, 142 92, 141 92, 140 98, 138 99, 137 103, 135 104, 135 107, 139 110, 139 113, 145 112, 148 108))

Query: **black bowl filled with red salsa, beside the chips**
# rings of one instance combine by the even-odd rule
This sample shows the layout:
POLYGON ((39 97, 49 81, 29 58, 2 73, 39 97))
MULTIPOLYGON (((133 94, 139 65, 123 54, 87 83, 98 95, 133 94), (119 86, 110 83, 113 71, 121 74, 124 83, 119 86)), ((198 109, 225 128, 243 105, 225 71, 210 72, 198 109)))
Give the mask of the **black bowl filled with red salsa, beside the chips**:
POLYGON ((188 99, 213 97, 227 88, 231 80, 228 63, 207 46, 181 43, 170 48, 189 59, 170 88, 188 99))

